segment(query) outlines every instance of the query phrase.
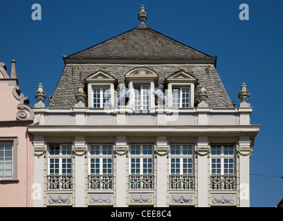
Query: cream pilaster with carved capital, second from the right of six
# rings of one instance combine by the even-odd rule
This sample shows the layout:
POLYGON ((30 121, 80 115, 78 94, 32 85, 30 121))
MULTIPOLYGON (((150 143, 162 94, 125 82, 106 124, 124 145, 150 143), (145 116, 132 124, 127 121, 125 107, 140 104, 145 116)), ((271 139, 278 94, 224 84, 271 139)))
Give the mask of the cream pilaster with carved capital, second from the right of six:
POLYGON ((197 156, 197 198, 198 207, 208 207, 208 137, 199 136, 195 153, 197 156))

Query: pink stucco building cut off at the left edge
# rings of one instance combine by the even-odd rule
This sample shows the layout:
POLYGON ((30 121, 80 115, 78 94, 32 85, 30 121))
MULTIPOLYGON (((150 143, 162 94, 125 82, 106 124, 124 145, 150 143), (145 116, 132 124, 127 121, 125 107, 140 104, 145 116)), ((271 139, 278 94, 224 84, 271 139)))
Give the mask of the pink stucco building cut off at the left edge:
POLYGON ((33 122, 12 60, 10 76, 0 62, 0 207, 33 206, 33 153, 27 125, 33 122))

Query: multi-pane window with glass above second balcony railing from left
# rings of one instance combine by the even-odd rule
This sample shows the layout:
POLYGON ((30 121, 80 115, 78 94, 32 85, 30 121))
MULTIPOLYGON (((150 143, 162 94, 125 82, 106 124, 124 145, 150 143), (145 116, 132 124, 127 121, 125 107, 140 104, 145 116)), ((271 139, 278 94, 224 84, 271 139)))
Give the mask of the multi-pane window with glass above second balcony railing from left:
POLYGON ((112 145, 91 145, 89 147, 90 175, 112 175, 113 151, 112 145))

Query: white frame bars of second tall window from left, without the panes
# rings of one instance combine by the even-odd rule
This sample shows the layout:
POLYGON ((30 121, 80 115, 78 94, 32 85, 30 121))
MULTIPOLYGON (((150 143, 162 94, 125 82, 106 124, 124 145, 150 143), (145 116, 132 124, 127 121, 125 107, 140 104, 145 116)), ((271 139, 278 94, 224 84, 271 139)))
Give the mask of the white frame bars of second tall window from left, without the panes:
MULTIPOLYGON (((108 152, 108 150, 107 150, 108 152)), ((94 162, 95 164, 95 162, 94 162)), ((107 165, 108 165, 108 162, 107 162, 107 165)), ((96 168, 94 167, 94 170, 96 168)), ((89 145, 89 175, 113 175, 113 145, 112 144, 90 144, 89 145), (99 151, 99 154, 91 154, 91 147, 92 146, 98 146, 98 151, 99 151), (103 147, 104 146, 107 146, 107 148, 110 146, 111 148, 111 153, 107 153, 107 154, 104 154, 104 149, 103 147), (107 166, 107 173, 103 173, 103 160, 109 160, 111 159, 111 173, 108 172, 108 166, 107 166), (94 173, 91 173, 91 164, 93 164, 91 162, 91 160, 98 160, 98 163, 99 163, 99 173, 96 173, 94 171, 94 173)))

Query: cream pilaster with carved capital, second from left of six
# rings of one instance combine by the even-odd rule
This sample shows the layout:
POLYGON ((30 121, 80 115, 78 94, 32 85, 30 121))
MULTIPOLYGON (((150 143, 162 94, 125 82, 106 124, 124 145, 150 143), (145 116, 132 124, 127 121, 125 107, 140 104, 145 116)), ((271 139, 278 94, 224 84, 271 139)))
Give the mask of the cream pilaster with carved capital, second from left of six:
POLYGON ((85 206, 85 160, 86 160, 86 141, 84 137, 75 137, 73 142, 73 157, 75 158, 75 207, 85 206))

